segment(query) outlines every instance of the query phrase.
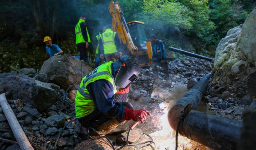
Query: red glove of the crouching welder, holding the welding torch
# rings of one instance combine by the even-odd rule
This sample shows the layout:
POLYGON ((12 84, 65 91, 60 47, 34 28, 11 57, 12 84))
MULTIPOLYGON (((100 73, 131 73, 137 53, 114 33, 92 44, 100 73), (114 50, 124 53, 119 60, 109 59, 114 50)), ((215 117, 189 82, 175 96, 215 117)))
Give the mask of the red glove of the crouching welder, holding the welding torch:
POLYGON ((150 116, 150 112, 144 109, 133 110, 129 109, 128 107, 125 108, 125 116, 124 120, 133 120, 133 121, 140 121, 141 123, 145 122, 147 116, 150 116))

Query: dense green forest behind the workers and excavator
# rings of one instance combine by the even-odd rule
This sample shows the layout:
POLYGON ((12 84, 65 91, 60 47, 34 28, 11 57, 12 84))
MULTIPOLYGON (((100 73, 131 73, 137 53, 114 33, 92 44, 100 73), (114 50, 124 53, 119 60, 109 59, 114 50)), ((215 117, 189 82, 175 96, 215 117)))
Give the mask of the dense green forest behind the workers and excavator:
MULTIPOLYGON (((214 58, 218 42, 242 24, 256 0, 119 0, 126 21, 146 28, 168 46, 214 58)), ((110 0, 1 0, 0 73, 20 68, 40 70, 46 54, 44 36, 67 54, 79 54, 74 27, 80 14, 92 39, 111 24, 110 0)), ((92 44, 89 47, 93 62, 92 44)))

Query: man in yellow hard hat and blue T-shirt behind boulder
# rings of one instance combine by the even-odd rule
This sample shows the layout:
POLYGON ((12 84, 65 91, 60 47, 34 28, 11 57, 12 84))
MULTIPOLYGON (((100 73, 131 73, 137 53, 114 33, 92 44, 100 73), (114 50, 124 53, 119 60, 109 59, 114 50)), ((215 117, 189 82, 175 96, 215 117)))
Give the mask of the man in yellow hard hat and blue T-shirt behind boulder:
POLYGON ((63 53, 63 51, 60 49, 60 47, 56 44, 52 44, 52 39, 50 38, 50 36, 46 36, 44 37, 44 41, 46 44, 46 54, 45 54, 45 58, 47 56, 47 54, 49 54, 50 57, 52 56, 57 56, 63 53))

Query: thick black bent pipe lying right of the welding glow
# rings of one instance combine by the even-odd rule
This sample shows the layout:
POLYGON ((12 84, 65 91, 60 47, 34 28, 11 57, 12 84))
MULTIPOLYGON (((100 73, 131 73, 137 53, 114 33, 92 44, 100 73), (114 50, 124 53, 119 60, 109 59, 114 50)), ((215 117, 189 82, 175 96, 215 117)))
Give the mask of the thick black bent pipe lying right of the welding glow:
POLYGON ((207 74, 172 106, 168 112, 168 122, 176 130, 182 111, 188 104, 192 104, 191 112, 180 124, 179 133, 216 150, 235 150, 242 123, 196 111, 209 80, 210 75, 207 74))

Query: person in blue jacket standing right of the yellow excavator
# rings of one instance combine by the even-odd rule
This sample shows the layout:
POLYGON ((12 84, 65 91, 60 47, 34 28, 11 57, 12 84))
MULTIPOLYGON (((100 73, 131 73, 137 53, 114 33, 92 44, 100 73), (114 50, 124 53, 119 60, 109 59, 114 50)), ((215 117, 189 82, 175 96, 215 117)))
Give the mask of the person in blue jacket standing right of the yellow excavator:
POLYGON ((156 36, 154 34, 151 34, 149 39, 152 44, 153 63, 151 67, 154 73, 154 79, 158 78, 158 70, 156 66, 161 66, 163 69, 163 72, 165 73, 165 79, 169 80, 169 68, 166 61, 166 52, 164 48, 164 42, 156 39, 156 36))

